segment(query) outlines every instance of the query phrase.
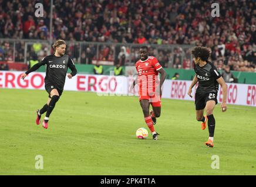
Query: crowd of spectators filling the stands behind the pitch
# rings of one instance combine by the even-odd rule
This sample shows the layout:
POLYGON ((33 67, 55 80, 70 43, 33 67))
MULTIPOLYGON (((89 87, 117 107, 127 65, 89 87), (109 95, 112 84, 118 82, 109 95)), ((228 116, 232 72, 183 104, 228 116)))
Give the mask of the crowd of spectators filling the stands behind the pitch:
MULTIPOLYGON (((55 0, 53 39, 207 46, 212 50, 211 61, 219 70, 228 66, 230 70, 254 72, 256 1, 218 2, 220 17, 213 18, 214 1, 55 0)), ((32 0, 0 0, 0 38, 48 40, 49 1, 43 1, 45 17, 42 19, 35 17, 34 4, 32 0)), ((11 60, 12 52, 6 49, 8 42, 2 42, 0 61, 11 60)), ((86 57, 87 51, 90 51, 88 47, 80 59, 86 57)), ((109 60, 114 59, 112 50, 102 51, 109 60)), ((174 56, 182 53, 187 51, 180 48, 172 54, 161 51, 158 54, 160 61, 168 61, 173 55, 173 68, 192 68, 190 58, 181 61, 174 56)), ((23 58, 18 51, 15 61, 23 58)))

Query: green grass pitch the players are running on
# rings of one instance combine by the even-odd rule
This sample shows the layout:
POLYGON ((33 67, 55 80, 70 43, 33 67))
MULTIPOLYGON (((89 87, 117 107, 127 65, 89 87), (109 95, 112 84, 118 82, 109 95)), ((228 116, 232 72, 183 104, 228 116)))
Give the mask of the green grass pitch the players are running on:
POLYGON ((256 108, 228 105, 222 113, 218 104, 209 148, 190 101, 162 99, 154 141, 135 136, 147 128, 137 97, 64 91, 43 129, 35 110, 47 98, 46 91, 0 89, 0 175, 256 174, 256 108), (36 155, 43 169, 35 168, 36 155))

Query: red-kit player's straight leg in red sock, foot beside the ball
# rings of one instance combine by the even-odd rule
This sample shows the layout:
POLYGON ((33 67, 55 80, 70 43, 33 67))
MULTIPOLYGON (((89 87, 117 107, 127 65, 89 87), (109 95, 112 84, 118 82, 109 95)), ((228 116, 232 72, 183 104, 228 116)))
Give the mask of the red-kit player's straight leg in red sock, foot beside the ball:
POLYGON ((149 115, 149 105, 150 105, 149 100, 147 99, 140 100, 140 106, 142 106, 144 120, 153 135, 153 139, 157 140, 157 133, 156 131, 154 131, 153 121, 151 119, 151 116, 149 115))

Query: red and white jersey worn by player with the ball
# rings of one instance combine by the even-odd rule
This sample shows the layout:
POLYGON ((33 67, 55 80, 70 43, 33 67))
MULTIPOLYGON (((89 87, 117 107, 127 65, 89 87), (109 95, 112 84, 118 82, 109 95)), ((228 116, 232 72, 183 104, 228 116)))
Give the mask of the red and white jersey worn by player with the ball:
POLYGON ((155 91, 156 86, 159 85, 158 70, 162 68, 156 57, 149 56, 147 60, 138 60, 135 66, 138 72, 137 83, 140 92, 142 90, 155 91))

